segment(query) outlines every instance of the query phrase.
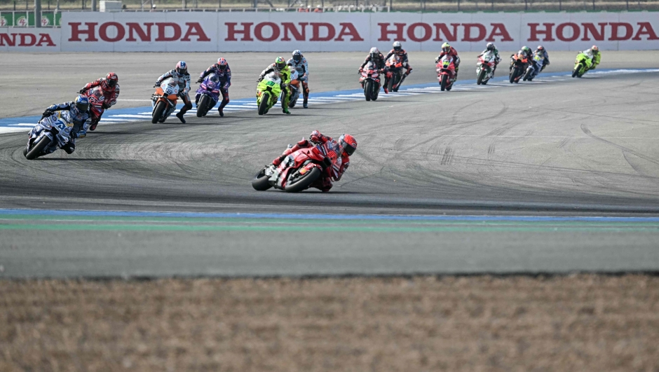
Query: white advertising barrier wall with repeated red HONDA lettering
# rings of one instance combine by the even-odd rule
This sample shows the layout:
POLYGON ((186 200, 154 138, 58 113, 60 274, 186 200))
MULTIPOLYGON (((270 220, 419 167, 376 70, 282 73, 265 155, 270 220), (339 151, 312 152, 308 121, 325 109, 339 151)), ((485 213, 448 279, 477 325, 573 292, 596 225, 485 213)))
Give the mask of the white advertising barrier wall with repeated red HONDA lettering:
POLYGON ((93 52, 659 49, 659 12, 63 13, 61 29, 0 28, 0 50, 93 52), (28 36, 32 35, 32 36, 28 36))

